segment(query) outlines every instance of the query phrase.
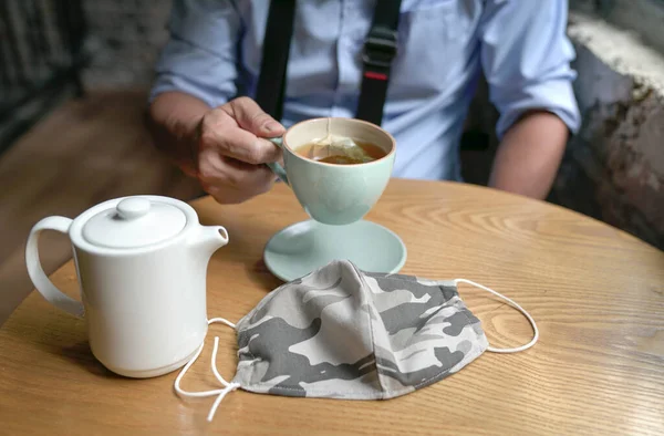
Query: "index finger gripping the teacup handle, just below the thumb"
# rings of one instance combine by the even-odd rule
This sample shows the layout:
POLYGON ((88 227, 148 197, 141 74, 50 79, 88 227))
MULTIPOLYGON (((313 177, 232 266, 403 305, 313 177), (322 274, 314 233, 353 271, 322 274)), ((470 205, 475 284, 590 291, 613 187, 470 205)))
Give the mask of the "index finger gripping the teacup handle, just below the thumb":
POLYGON ((281 149, 277 145, 240 128, 225 111, 214 111, 203 120, 200 149, 207 148, 253 165, 281 158, 281 149))

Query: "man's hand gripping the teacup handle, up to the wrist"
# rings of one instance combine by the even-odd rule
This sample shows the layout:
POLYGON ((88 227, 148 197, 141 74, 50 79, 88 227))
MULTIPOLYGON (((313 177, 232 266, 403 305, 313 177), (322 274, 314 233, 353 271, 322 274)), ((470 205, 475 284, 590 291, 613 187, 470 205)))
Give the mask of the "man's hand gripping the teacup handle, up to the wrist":
POLYGON ((264 165, 281 149, 264 137, 284 128, 251 98, 240 97, 209 111, 198 124, 197 177, 219 203, 242 203, 268 191, 274 174, 264 165))

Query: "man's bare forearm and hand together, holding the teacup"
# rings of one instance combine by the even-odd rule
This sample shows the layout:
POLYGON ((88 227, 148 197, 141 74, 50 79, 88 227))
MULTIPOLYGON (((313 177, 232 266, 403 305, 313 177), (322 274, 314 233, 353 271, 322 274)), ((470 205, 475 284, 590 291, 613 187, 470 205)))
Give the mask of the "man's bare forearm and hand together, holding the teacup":
POLYGON ((157 147, 218 203, 242 203, 274 183, 263 164, 279 160, 281 149, 264 138, 284 128, 251 98, 210 108, 190 95, 164 93, 149 107, 148 126, 157 147))

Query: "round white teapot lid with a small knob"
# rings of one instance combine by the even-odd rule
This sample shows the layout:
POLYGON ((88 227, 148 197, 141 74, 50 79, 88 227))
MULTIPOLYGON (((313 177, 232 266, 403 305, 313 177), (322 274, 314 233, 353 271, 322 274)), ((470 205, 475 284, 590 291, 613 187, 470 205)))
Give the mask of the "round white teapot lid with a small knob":
POLYGON ((127 197, 90 218, 83 238, 94 246, 139 248, 173 238, 186 224, 185 212, 174 205, 154 197, 127 197))

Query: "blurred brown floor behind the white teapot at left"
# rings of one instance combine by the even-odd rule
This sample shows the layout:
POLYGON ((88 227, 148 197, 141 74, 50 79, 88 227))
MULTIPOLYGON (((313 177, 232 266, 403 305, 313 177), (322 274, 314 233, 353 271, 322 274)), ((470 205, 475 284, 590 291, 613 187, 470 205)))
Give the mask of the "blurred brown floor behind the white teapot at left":
MULTIPOLYGON (((30 228, 50 215, 75 217, 105 199, 159 194, 190 199, 191 179, 152 146, 144 91, 92 92, 56 107, 0 158, 0 325, 30 292, 30 228)), ((44 235, 44 270, 71 259, 66 238, 44 235)))

